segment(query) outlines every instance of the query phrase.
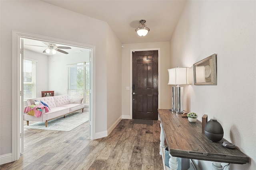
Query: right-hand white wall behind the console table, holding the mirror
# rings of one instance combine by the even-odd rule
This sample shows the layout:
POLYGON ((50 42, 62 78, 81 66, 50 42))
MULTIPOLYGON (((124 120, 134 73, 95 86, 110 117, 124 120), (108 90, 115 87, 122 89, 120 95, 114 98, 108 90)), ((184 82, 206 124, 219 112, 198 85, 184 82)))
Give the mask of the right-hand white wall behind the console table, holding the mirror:
MULTIPOLYGON (((204 114, 217 119, 224 138, 250 157, 230 169, 255 170, 256 1, 188 1, 170 41, 170 66, 192 67, 214 53, 217 86, 187 86, 184 109, 200 121, 204 114)), ((211 169, 211 162, 199 164, 211 169)))

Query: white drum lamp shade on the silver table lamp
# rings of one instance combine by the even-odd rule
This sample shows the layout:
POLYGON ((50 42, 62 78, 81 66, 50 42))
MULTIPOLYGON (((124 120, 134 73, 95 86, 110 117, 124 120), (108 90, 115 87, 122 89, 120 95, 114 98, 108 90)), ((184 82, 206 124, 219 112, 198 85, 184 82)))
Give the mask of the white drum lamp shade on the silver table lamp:
POLYGON ((189 84, 187 67, 176 67, 168 69, 169 85, 189 84))

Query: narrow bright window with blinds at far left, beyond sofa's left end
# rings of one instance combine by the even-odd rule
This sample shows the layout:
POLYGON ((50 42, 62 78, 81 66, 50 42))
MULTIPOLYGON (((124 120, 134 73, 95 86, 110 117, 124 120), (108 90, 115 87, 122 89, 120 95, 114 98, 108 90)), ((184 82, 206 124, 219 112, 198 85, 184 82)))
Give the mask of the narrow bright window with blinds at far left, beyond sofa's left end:
POLYGON ((36 97, 36 62, 23 60, 24 101, 36 97))

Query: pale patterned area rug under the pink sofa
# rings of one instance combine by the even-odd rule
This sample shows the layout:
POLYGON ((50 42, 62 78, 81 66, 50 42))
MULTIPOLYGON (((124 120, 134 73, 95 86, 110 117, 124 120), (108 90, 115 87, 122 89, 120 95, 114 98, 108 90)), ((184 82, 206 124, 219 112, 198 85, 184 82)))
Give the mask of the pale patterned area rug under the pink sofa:
POLYGON ((71 131, 89 120, 89 112, 74 112, 66 115, 66 118, 59 117, 48 121, 47 127, 45 122, 30 121, 29 125, 24 125, 24 129, 42 129, 51 131, 71 131))

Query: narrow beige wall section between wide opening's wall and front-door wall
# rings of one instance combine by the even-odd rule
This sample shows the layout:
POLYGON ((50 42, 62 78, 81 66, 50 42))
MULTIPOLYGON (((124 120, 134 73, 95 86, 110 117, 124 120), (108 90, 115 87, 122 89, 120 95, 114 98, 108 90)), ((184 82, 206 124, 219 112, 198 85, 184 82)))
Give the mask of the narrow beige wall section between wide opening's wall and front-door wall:
POLYGON ((122 46, 110 27, 107 29, 107 53, 107 129, 110 132, 122 116, 122 46))

